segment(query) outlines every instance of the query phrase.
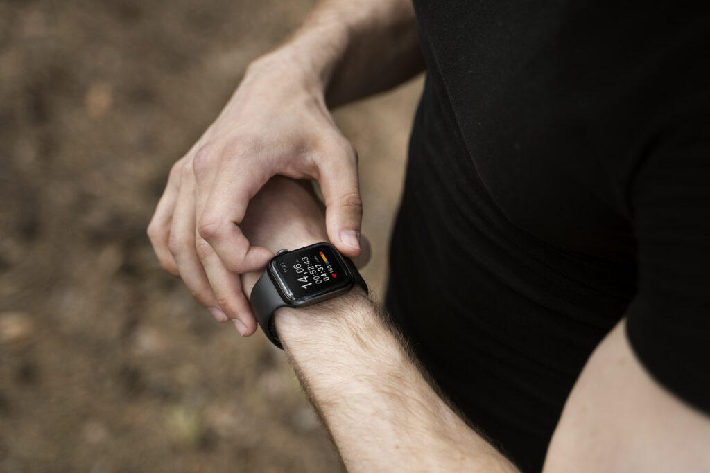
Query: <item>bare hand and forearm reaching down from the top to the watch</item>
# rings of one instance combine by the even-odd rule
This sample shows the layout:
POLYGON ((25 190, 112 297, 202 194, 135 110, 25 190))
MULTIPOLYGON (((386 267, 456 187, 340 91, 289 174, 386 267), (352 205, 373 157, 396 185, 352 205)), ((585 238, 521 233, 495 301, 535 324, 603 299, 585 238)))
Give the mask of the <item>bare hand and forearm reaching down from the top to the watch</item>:
POLYGON ((422 67, 408 1, 322 2, 249 66, 222 113, 170 170, 148 226, 160 265, 214 318, 251 335, 256 321, 239 275, 272 254, 252 245, 241 224, 276 174, 319 182, 328 239, 344 255, 359 255, 357 154, 328 106, 393 87, 422 67))

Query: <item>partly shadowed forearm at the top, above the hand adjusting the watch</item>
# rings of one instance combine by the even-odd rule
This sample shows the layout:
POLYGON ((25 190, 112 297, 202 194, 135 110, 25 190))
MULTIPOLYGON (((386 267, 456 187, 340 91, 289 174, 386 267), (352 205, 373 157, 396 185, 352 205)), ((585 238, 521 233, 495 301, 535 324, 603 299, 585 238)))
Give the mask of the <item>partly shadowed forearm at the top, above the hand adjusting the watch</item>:
POLYGON ((320 88, 329 106, 394 87, 424 67, 411 0, 324 0, 251 69, 264 66, 320 88))

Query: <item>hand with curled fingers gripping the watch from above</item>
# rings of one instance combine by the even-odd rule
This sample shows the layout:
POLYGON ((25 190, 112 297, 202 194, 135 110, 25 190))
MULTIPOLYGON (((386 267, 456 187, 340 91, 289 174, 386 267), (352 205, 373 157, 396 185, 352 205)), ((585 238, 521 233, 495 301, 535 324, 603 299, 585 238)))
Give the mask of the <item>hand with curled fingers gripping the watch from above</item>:
POLYGON ((251 246, 241 225, 269 178, 316 179, 329 240, 344 255, 360 253, 357 155, 327 111, 319 79, 302 69, 278 52, 249 67, 224 111, 171 169, 148 226, 160 265, 245 336, 256 321, 239 274, 263 267, 271 252, 251 246))

